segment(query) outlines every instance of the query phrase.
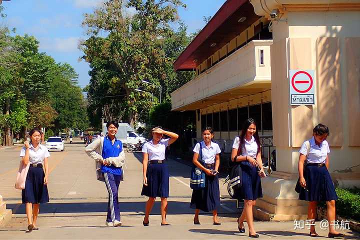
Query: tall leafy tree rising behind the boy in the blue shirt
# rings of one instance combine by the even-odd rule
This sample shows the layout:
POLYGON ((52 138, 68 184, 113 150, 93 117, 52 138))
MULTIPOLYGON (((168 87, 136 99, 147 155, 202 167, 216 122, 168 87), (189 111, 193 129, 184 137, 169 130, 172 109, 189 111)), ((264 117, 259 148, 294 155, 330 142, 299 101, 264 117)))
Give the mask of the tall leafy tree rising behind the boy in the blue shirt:
POLYGON ((146 109, 157 102, 149 92, 155 92, 156 87, 141 80, 158 85, 166 78, 171 59, 166 57, 163 45, 173 33, 169 23, 177 20, 178 6, 185 5, 180 0, 129 0, 126 7, 136 10, 129 16, 123 13, 126 7, 122 0, 106 0, 93 13, 85 14, 83 26, 89 38, 81 47, 85 53, 82 58, 93 70, 88 88, 90 109, 104 108, 92 98, 120 95, 108 104, 117 118, 131 124, 147 119, 146 109), (106 36, 100 37, 99 33, 106 36), (106 92, 97 86, 107 87, 106 92), (142 92, 135 90, 139 87, 142 92))

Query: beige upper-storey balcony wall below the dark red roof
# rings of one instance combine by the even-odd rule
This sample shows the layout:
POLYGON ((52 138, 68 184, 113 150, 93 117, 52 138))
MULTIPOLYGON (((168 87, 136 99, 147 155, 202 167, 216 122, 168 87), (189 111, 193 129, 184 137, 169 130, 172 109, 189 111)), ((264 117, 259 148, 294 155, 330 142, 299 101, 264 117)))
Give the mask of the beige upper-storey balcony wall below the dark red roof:
POLYGON ((270 44, 272 40, 254 40, 237 49, 203 74, 171 93, 172 109, 213 96, 223 91, 254 83, 270 82, 270 44), (264 50, 264 65, 258 63, 259 49, 264 50))

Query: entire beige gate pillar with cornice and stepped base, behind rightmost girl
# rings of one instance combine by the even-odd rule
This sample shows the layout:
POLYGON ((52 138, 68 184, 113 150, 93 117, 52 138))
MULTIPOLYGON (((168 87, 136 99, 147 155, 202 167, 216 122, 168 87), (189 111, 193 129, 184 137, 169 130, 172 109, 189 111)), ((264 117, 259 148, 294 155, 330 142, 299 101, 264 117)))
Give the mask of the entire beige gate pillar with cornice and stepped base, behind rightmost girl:
POLYGON ((256 201, 257 217, 268 220, 306 218, 307 202, 297 200, 294 191, 298 150, 319 122, 330 129, 329 172, 335 186, 360 186, 360 0, 287 2, 251 1, 259 15, 278 9, 271 45, 277 172, 262 180, 264 197, 256 201), (315 105, 290 105, 290 69, 315 71, 315 105))

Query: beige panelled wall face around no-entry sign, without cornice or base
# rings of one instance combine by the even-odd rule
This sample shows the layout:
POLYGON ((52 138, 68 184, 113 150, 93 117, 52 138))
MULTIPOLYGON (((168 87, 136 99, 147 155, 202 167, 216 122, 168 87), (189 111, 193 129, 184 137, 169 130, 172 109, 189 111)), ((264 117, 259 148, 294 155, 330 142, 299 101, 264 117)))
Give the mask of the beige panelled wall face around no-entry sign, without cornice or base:
MULTIPOLYGON (((297 172, 298 147, 318 122, 330 128, 330 170, 359 164, 360 12, 289 11, 282 18, 287 22, 273 22, 271 46, 274 140, 282 148, 277 151, 279 170, 297 172), (289 69, 315 70, 315 105, 289 105, 289 69)), ((352 171, 360 172, 360 167, 352 171)))

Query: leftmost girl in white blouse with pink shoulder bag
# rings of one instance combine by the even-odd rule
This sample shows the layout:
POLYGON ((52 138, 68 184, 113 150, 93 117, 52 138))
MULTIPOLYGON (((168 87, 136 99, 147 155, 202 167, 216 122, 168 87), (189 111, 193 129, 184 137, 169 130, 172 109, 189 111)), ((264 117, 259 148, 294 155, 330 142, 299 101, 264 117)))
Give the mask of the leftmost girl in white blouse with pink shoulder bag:
POLYGON ((33 128, 30 131, 30 142, 25 141, 21 148, 20 156, 24 165, 30 164, 25 188, 21 191, 22 203, 26 206, 27 229, 37 230, 36 220, 39 212, 39 203, 49 201, 47 191, 48 165, 47 157, 50 156, 47 148, 40 144, 41 131, 33 128))

